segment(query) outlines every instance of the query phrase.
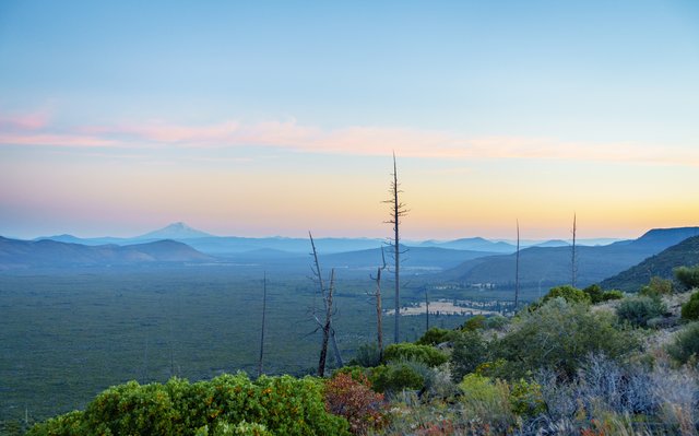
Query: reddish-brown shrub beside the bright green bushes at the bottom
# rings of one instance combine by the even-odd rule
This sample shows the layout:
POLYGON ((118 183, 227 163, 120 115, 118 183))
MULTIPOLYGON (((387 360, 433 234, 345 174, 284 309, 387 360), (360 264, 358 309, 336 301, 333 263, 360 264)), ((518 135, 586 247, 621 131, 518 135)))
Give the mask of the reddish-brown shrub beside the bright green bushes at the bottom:
POLYGON ((325 382, 325 406, 343 416, 355 435, 366 435, 386 424, 383 396, 371 390, 366 377, 355 380, 350 374, 337 374, 325 382))

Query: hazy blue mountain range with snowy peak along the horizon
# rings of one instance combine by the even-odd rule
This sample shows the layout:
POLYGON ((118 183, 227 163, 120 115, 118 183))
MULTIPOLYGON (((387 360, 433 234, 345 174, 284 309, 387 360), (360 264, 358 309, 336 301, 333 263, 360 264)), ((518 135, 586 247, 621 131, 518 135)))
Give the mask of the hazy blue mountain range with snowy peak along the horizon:
MULTIPOLYGON (((638 239, 576 249, 577 284, 601 282, 657 255, 688 237, 699 227, 656 228, 638 239)), ((370 271, 382 262, 386 244, 371 238, 318 238, 316 246, 325 269, 370 271)), ((450 241, 407 241, 402 249, 406 274, 434 273, 429 280, 450 283, 514 282, 514 247, 506 241, 462 238, 450 241)), ((175 223, 133 238, 78 238, 71 235, 33 241, 0 238, 0 268, 47 266, 152 264, 157 262, 234 262, 301 271, 308 267, 310 244, 306 238, 247 238, 214 236, 175 223), (158 238, 168 238, 166 240, 158 238)), ((520 250, 523 286, 570 283, 571 247, 565 240, 540 241, 520 250)))

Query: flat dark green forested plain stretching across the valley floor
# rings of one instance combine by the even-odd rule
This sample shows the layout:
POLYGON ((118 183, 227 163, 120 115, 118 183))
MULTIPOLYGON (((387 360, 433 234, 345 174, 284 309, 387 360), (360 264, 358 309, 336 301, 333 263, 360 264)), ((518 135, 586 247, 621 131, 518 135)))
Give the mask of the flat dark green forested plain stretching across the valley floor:
MULTIPOLYGON (((82 408, 108 386, 130 379, 191 380, 222 372, 257 372, 262 272, 240 267, 100 269, 0 275, 0 420, 42 420, 82 408)), ((320 335, 309 313, 320 305, 303 273, 268 271, 264 370, 310 373, 320 335)), ((335 326, 343 357, 374 341, 375 309, 367 276, 339 274, 335 326)), ((383 306, 393 306, 391 282, 383 306)), ((464 294, 443 291, 434 298, 464 294)), ((484 293, 481 298, 487 297, 484 293)), ((494 293, 497 294, 497 293, 494 293)), ((502 293, 502 296, 507 296, 502 293)), ((430 296, 431 297, 431 296, 430 296)), ((422 288, 403 291, 418 304, 422 288)), ((461 316, 430 316, 430 326, 454 327, 461 316)), ((393 322, 384 320, 392 338, 393 322)), ((402 337, 417 339, 423 316, 404 317, 402 337)))

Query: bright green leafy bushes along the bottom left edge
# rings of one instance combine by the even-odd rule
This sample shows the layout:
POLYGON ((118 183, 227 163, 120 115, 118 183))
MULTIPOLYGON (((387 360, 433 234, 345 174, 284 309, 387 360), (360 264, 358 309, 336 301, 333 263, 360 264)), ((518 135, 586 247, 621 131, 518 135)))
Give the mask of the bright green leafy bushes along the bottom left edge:
POLYGON ((214 434, 347 434, 346 421, 325 411, 322 392, 322 381, 311 377, 262 376, 252 381, 237 374, 197 384, 130 381, 102 392, 84 412, 39 424, 29 435, 186 435, 209 432, 210 426, 214 434), (263 427, 236 429, 218 422, 263 427))

